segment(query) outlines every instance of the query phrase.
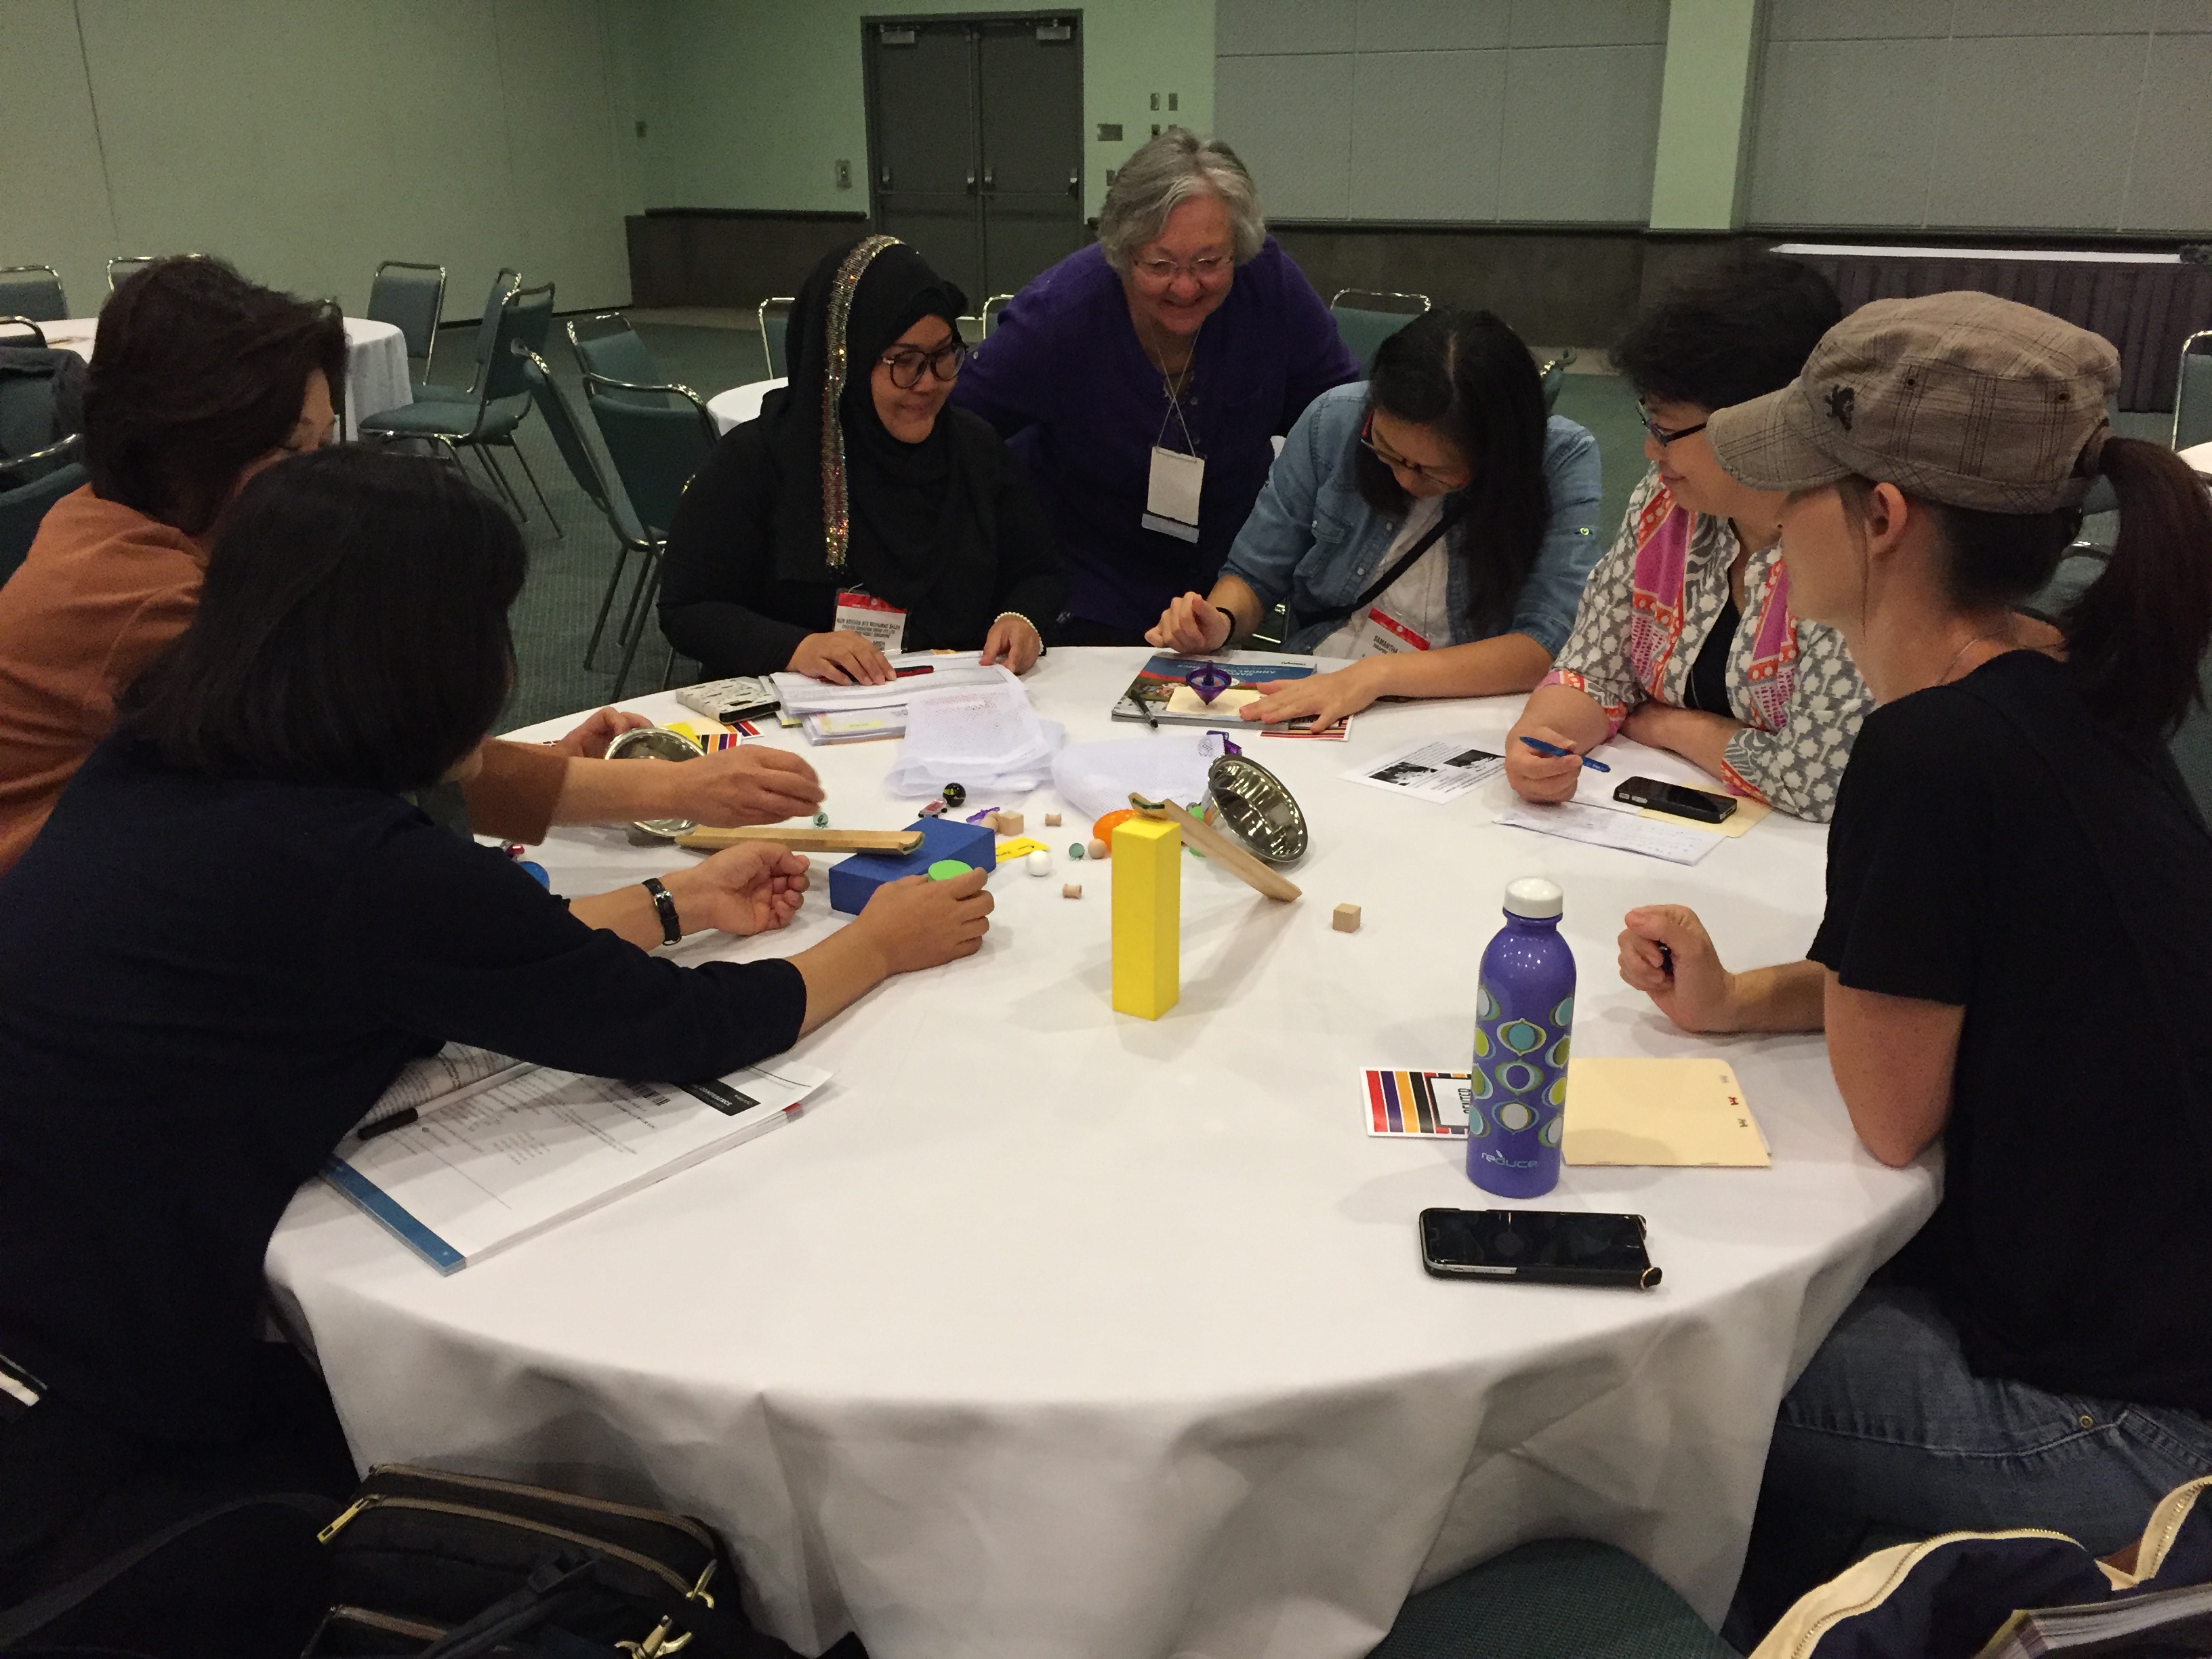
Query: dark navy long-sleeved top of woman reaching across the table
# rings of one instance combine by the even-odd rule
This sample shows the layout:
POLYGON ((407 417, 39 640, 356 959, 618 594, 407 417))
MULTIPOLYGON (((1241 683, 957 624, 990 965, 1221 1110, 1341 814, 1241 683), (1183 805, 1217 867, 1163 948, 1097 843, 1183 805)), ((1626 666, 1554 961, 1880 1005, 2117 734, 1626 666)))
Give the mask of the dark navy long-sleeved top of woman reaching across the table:
POLYGON ((111 1427, 230 1438, 276 1219, 403 1064, 684 1082, 803 1015, 790 962, 648 956, 396 796, 111 739, 0 876, 0 1354, 111 1427))

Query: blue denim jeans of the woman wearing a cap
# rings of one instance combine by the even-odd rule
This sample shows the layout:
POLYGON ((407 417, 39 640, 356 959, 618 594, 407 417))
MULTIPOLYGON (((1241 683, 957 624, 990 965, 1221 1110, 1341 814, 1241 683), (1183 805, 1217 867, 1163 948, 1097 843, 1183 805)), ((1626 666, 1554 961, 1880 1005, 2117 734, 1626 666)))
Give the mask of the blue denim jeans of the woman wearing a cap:
POLYGON ((2044 1526, 2097 1555, 2212 1473, 2212 1422, 2174 1407, 1975 1376, 1933 1298, 1867 1287, 1783 1400, 1761 1502, 1920 1533, 2044 1526))

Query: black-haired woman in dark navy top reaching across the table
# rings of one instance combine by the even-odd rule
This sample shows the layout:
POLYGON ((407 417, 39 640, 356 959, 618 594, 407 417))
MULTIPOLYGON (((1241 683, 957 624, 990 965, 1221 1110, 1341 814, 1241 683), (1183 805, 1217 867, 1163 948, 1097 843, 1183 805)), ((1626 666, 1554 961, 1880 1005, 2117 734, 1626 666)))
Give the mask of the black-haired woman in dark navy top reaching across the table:
POLYGON ((434 825, 403 794, 476 761, 520 586, 511 520, 458 473, 279 462, 0 878, 0 1604, 135 1480, 250 1444, 270 1234, 409 1060, 710 1077, 978 949, 982 872, 887 887, 790 960, 677 967, 639 947, 781 927, 805 860, 732 849, 595 929, 434 825))

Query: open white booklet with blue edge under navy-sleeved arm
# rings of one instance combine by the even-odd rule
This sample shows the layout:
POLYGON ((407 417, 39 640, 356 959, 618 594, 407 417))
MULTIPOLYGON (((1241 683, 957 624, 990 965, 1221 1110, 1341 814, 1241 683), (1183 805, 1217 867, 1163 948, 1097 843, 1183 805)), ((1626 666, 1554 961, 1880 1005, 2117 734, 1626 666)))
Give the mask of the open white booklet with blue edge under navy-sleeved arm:
POLYGON ((323 1179, 449 1274, 765 1135, 825 1082, 779 1060, 628 1084, 447 1044, 394 1079, 323 1179))

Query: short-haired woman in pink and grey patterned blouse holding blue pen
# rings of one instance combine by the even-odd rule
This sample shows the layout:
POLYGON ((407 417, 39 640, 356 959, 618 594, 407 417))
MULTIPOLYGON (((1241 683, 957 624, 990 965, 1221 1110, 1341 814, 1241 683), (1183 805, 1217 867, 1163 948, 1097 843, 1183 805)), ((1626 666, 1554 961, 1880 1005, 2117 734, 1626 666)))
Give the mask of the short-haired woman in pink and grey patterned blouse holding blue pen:
POLYGON ((1710 411, 1790 385, 1840 316, 1812 268, 1763 257, 1686 283, 1613 352, 1644 405, 1652 471, 1513 726, 1506 779, 1524 799, 1566 801, 1575 757, 1626 732, 1734 794, 1823 823, 1834 812, 1867 686, 1843 635, 1790 611, 1783 498, 1721 471, 1703 431, 1710 411))

